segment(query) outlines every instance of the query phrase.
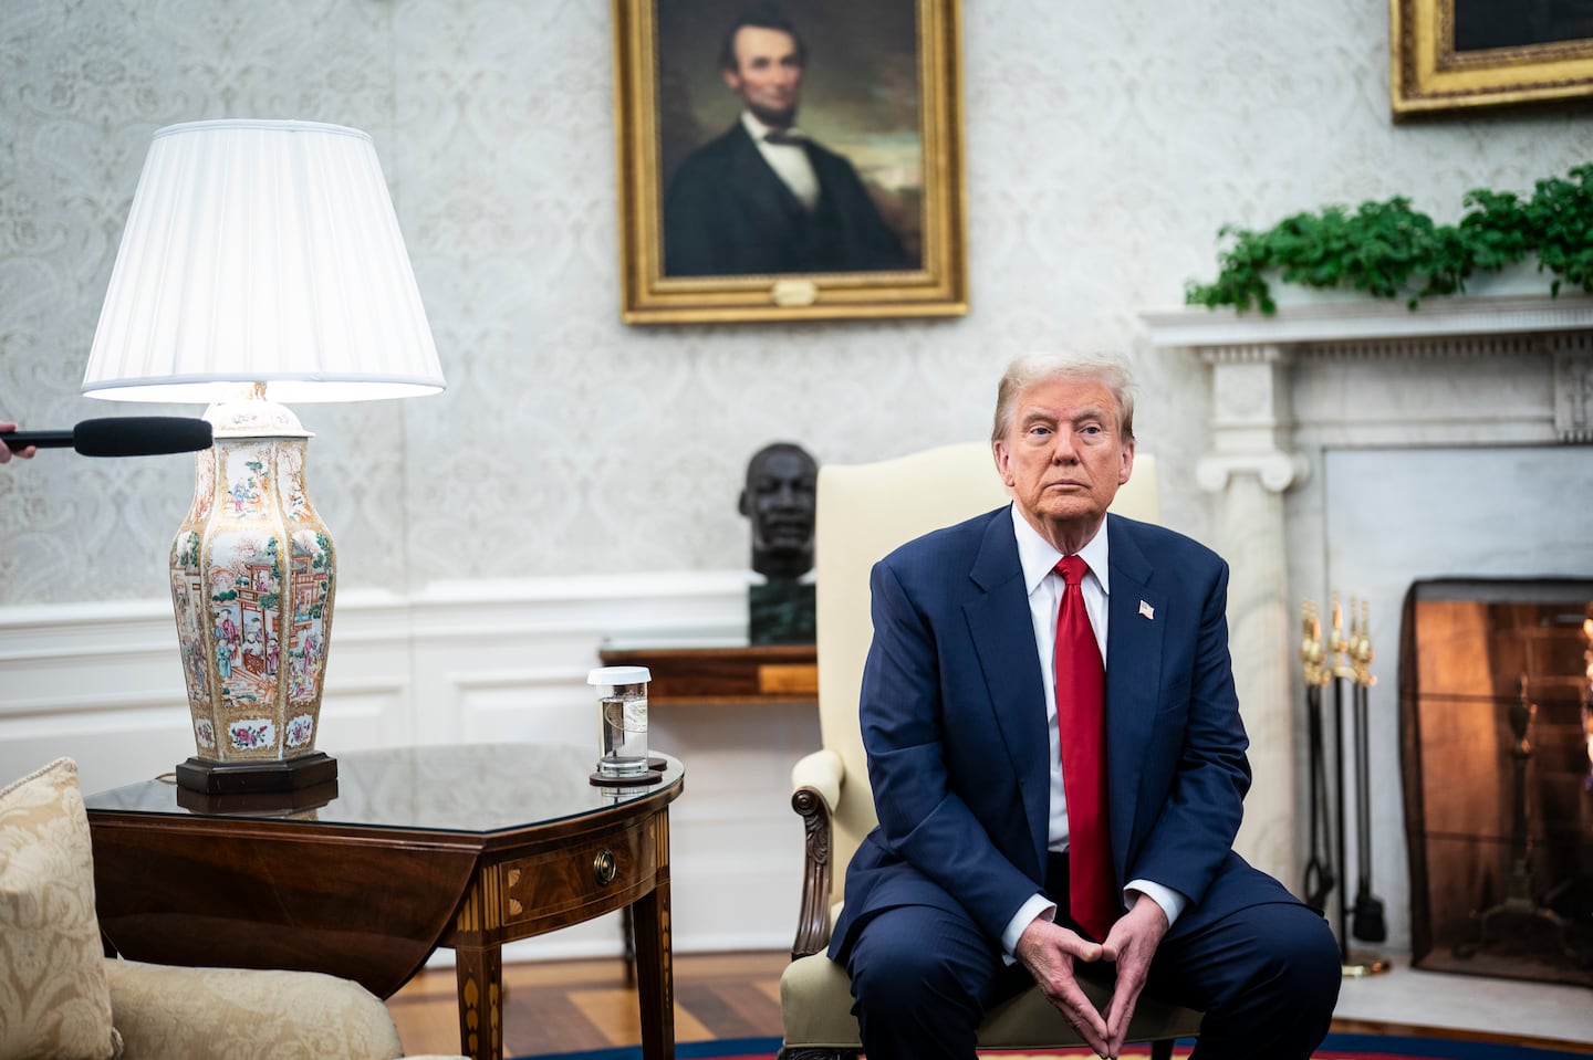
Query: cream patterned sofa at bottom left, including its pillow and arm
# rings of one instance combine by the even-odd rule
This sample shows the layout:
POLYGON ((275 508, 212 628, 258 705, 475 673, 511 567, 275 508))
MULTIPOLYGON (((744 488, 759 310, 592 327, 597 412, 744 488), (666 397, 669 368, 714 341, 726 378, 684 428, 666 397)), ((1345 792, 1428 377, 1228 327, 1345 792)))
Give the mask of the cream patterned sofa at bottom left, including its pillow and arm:
POLYGON ((0 788, 0 1057, 401 1055, 387 1006, 357 982, 105 957, 76 764, 56 759, 0 788))

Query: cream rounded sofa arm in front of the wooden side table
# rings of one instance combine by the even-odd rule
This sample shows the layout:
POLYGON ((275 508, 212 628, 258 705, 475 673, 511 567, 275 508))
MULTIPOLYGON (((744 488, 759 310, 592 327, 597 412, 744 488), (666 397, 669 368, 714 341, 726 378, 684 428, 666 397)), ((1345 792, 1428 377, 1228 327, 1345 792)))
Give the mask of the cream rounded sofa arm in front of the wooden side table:
POLYGON ((105 960, 124 1060, 395 1060, 387 1006, 317 972, 105 960))

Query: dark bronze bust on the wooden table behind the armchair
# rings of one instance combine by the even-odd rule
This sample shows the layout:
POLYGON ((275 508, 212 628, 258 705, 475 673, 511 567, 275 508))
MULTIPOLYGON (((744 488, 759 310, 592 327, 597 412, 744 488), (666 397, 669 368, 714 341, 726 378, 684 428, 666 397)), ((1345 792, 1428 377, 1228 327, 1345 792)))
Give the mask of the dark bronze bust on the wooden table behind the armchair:
POLYGON ((752 570, 766 578, 747 590, 753 645, 811 645, 814 637, 812 527, 819 463, 801 446, 774 442, 752 454, 741 514, 752 519, 752 570))

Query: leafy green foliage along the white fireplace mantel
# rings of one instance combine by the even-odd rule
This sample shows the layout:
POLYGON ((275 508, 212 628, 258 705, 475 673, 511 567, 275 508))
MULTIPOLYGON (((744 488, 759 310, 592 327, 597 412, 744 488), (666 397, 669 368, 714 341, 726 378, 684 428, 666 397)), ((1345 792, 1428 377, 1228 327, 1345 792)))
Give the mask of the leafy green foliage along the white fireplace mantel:
POLYGON ((1217 279, 1190 280, 1184 301, 1270 315, 1278 312, 1266 285, 1273 279, 1405 298, 1416 309, 1423 298, 1461 294, 1467 279, 1528 255, 1553 277, 1550 296, 1563 283, 1593 293, 1593 164, 1539 180, 1525 199, 1478 188, 1466 193, 1464 207, 1458 224, 1437 224, 1405 197, 1362 202, 1352 213, 1341 205, 1295 213, 1266 231, 1225 224, 1217 236, 1233 245, 1217 255, 1217 279))

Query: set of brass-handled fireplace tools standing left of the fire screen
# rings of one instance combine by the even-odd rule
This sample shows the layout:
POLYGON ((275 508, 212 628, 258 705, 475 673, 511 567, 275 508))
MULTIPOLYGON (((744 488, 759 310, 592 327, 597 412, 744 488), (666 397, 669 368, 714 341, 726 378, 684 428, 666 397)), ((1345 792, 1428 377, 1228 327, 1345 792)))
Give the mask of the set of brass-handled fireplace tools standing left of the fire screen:
POLYGON ((1327 645, 1322 645, 1322 622, 1316 611, 1316 603, 1306 600, 1301 606, 1305 635, 1300 646, 1300 659, 1305 668, 1306 684, 1306 724, 1311 740, 1311 858, 1306 863, 1305 891, 1306 902, 1327 912, 1329 896, 1338 890, 1338 955, 1344 976, 1362 977, 1389 971, 1389 961, 1375 953, 1351 952, 1351 934, 1362 942, 1383 942, 1388 939, 1388 923, 1383 915, 1383 901, 1372 893, 1372 769, 1370 769, 1370 708, 1368 692, 1376 678, 1372 675, 1372 624, 1368 606, 1360 602, 1360 614, 1356 614, 1356 600, 1349 602, 1349 630, 1344 630, 1344 613, 1338 602, 1338 592, 1332 597, 1332 629, 1327 645), (1322 750, 1322 688, 1333 686, 1333 828, 1327 820, 1327 767, 1322 750), (1344 719, 1344 684, 1351 686, 1351 719, 1344 719), (1344 791, 1349 783, 1349 770, 1344 758, 1344 734, 1349 729, 1354 743, 1354 783, 1356 783, 1356 899, 1351 907, 1349 894, 1335 877, 1346 866, 1344 840, 1349 832, 1344 820, 1344 791), (1317 831, 1321 828, 1321 832, 1317 831), (1335 859, 1329 861, 1321 842, 1327 842, 1333 834, 1335 859), (1354 922, 1351 922, 1351 912, 1354 922))

